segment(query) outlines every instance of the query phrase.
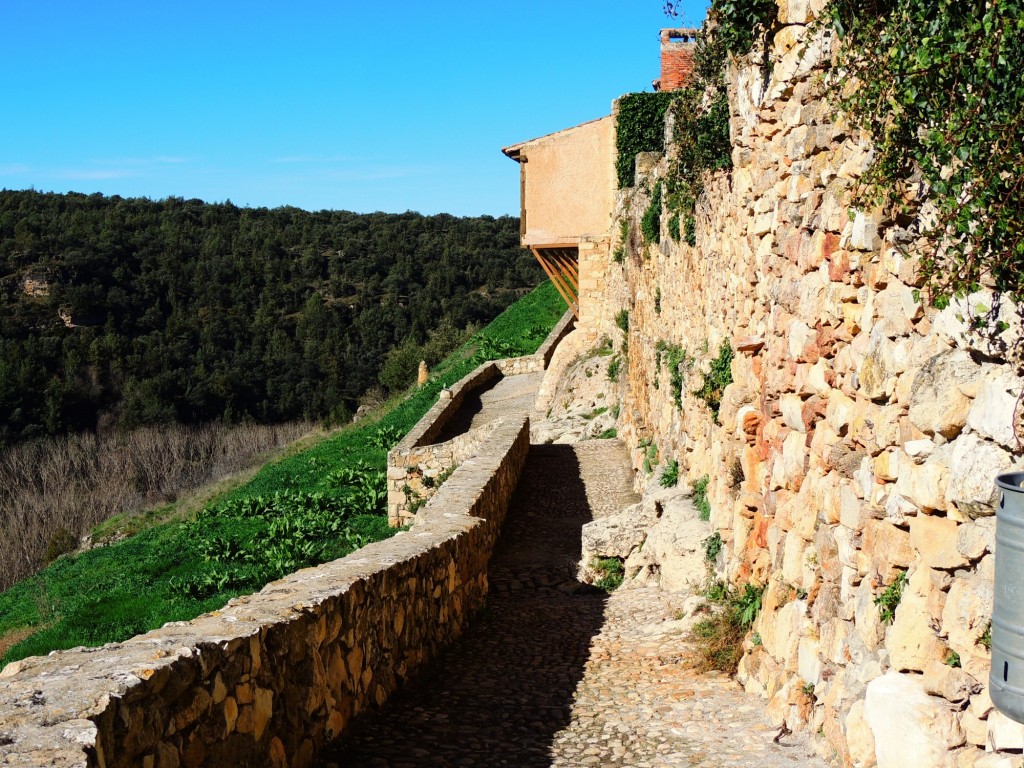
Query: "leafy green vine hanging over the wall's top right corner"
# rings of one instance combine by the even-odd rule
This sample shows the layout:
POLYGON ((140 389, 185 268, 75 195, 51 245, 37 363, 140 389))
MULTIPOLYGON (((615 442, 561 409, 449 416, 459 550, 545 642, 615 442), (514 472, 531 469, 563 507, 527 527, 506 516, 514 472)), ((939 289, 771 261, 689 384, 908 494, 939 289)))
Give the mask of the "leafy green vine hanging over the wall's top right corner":
POLYGON ((874 146, 857 204, 924 237, 936 305, 989 281, 1024 298, 1024 2, 833 0, 825 12, 842 40, 838 105, 874 146))

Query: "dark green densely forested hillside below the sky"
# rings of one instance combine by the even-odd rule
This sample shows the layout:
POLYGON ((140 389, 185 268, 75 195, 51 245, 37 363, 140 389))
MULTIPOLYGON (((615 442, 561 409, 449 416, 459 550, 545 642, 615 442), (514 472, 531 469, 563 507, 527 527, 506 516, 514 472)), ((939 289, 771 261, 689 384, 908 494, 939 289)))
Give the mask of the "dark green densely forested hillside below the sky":
POLYGON ((538 284, 518 237, 510 217, 2 190, 0 444, 345 418, 389 349, 433 332, 440 356, 538 284))

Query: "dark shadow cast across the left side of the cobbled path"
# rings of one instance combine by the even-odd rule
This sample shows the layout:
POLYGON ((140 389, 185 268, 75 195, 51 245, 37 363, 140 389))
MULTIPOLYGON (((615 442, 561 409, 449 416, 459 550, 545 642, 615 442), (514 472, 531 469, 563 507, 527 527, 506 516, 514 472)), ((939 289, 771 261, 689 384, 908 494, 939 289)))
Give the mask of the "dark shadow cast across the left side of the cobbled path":
POLYGON ((357 718, 321 764, 548 768, 604 621, 605 594, 574 575, 590 519, 572 446, 531 446, 486 607, 410 687, 357 718))

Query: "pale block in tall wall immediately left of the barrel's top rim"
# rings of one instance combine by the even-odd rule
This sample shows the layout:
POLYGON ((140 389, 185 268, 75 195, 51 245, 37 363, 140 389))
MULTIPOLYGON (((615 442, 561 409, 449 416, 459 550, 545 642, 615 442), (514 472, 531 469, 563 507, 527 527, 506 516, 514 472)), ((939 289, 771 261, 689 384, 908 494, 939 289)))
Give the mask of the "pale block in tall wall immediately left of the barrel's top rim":
POLYGON ((953 442, 949 459, 947 505, 972 519, 995 514, 998 502, 995 476, 1010 470, 1013 464, 1013 457, 994 442, 975 434, 961 436, 953 442))

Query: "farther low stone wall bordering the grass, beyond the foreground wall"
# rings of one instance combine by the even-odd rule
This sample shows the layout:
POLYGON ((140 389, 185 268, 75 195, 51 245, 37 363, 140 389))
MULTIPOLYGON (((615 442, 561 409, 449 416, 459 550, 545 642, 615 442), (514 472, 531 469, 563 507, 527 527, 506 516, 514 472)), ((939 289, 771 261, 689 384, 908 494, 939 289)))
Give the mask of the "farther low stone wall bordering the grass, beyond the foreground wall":
POLYGON ((496 424, 485 424, 443 442, 434 442, 465 398, 493 385, 503 376, 540 373, 551 361, 558 344, 572 330, 575 317, 566 311, 534 354, 484 362, 447 389, 387 456, 387 509, 392 526, 407 525, 417 504, 428 501, 445 476, 480 444, 496 424))

